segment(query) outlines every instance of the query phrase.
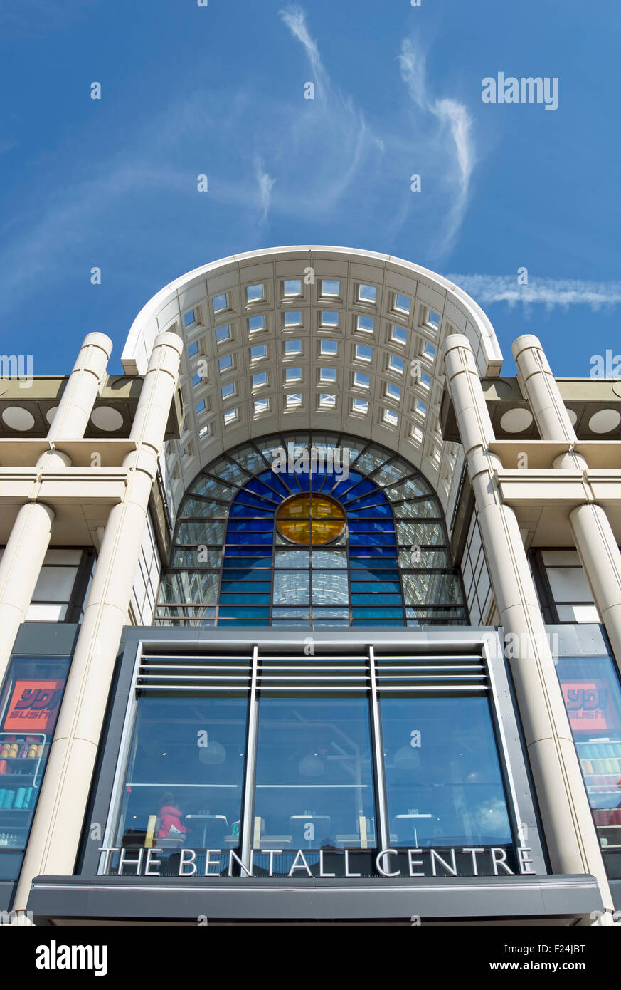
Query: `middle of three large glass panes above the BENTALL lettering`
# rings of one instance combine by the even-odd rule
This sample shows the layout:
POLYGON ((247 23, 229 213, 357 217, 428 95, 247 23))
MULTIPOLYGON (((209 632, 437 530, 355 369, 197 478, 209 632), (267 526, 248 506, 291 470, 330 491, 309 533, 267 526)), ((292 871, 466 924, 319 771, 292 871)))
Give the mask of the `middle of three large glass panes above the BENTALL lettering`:
MULTIPOLYGON (((375 844, 367 699, 261 698, 252 835, 257 866, 269 859, 261 850, 292 850, 278 857, 275 875, 287 876, 302 849, 316 872, 319 850, 342 860, 344 849, 375 844)), ((368 853, 363 858, 367 869, 357 866, 360 873, 371 864, 368 853)))

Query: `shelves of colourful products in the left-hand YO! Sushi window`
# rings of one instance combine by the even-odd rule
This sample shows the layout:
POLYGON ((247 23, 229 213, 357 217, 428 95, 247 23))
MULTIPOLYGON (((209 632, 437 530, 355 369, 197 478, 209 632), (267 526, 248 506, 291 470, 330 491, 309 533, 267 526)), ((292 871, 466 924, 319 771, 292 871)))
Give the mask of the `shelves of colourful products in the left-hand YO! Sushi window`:
MULTIPOLYGON (((35 807, 45 743, 43 734, 0 733, 0 829, 18 827, 35 807)), ((14 844, 3 838, 0 847, 14 844)))

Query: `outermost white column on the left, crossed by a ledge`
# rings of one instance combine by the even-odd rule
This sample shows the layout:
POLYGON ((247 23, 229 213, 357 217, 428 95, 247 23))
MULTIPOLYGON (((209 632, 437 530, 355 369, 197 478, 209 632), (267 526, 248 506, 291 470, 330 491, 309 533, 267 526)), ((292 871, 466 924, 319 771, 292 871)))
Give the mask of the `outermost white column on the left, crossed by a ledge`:
MULTIPOLYGON (((84 436, 111 352, 112 341, 104 334, 85 337, 47 433, 52 444, 84 436)), ((69 463, 66 454, 50 447, 37 467, 40 471, 62 469, 69 463)), ((23 505, 0 560, 0 682, 39 580, 54 515, 41 502, 23 505)))

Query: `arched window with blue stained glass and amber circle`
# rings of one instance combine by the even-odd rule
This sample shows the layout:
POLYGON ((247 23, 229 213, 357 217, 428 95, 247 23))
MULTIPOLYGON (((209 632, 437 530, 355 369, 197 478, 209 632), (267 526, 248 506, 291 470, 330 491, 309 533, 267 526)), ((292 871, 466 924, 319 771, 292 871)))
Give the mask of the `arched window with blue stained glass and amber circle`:
POLYGON ((188 489, 156 622, 464 625, 451 563, 440 503, 411 464, 349 436, 272 436, 188 489))

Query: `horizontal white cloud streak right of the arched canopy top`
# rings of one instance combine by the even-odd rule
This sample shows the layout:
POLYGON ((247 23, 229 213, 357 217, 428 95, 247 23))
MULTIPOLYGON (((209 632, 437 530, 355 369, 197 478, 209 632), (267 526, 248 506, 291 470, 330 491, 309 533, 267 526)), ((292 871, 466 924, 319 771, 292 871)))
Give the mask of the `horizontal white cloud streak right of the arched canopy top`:
POLYGON ((621 303, 621 282, 590 282, 577 278, 529 278, 527 285, 518 285, 516 275, 454 275, 446 276, 468 292, 482 305, 507 303, 510 307, 542 305, 546 309, 559 306, 589 306, 592 310, 618 306, 621 303))

